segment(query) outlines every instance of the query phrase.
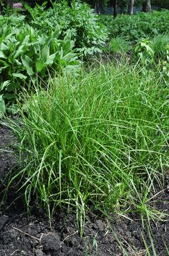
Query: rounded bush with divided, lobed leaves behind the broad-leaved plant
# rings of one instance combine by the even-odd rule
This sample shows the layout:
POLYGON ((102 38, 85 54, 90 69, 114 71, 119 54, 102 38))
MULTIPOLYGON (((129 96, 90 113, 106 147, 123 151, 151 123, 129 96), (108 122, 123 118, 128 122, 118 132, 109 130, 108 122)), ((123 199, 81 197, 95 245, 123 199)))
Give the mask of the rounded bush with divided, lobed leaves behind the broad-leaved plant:
POLYGON ((46 34, 59 28, 61 39, 69 33, 80 53, 100 53, 105 44, 107 30, 87 4, 73 1, 72 7, 69 7, 66 1, 62 1, 47 10, 45 6, 36 6, 34 9, 27 6, 27 9, 33 18, 32 26, 46 34))

